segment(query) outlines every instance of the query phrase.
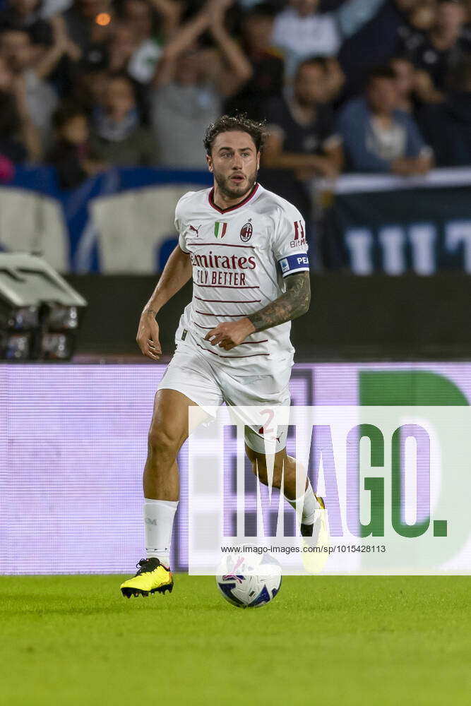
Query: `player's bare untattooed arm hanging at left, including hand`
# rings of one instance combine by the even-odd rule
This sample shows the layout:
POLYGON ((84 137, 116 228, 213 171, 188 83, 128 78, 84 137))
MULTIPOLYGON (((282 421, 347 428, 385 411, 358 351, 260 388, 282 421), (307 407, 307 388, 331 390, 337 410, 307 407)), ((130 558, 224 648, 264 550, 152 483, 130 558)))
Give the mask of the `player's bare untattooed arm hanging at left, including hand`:
POLYGON ((176 294, 191 278, 192 265, 189 253, 185 253, 179 245, 167 260, 164 271, 157 282, 152 297, 145 304, 139 319, 136 341, 141 352, 153 360, 162 355, 159 342, 159 325, 155 321, 157 313, 164 304, 176 294))

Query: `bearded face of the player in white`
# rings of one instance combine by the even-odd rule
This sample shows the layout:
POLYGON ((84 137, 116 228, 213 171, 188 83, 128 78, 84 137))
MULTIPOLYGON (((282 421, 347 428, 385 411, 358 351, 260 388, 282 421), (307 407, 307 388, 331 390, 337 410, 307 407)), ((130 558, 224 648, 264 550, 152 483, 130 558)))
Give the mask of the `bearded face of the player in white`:
POLYGON ((235 130, 220 133, 206 159, 218 188, 228 198, 240 198, 254 186, 260 152, 249 133, 235 130))

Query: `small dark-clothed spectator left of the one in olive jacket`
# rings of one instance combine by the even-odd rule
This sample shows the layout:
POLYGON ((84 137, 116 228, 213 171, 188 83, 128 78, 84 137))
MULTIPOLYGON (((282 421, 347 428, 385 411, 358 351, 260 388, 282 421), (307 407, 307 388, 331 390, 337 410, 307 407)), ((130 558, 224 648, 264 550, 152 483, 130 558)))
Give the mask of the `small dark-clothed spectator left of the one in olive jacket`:
POLYGON ((93 159, 86 114, 77 107, 62 106, 54 114, 56 142, 47 164, 56 168, 61 189, 76 189, 105 165, 93 159))

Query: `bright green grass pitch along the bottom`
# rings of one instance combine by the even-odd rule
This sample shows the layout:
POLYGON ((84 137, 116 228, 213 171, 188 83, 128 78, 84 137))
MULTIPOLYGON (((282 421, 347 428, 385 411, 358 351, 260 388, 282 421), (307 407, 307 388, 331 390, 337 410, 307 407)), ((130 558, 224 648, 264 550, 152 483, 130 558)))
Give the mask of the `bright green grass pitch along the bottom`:
POLYGON ((1 704, 469 703, 467 577, 287 577, 253 610, 211 577, 129 600, 120 579, 0 578, 1 704))

